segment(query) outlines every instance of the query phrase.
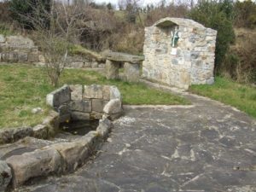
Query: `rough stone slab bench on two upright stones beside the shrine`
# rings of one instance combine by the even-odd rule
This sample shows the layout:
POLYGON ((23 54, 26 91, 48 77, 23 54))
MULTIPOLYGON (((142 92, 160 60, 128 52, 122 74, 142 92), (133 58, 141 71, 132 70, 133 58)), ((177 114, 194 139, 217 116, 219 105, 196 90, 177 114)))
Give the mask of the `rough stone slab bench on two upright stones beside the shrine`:
POLYGON ((124 63, 125 80, 137 82, 140 77, 140 62, 144 60, 143 56, 129 55, 119 52, 108 52, 106 54, 106 78, 118 79, 120 63, 124 63))

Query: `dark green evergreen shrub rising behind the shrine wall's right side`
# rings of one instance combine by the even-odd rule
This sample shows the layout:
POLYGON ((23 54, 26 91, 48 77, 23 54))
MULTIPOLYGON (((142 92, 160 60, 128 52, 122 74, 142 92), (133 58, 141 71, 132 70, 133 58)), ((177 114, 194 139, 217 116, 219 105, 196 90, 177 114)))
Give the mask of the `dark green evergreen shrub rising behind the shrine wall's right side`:
POLYGON ((234 19, 232 2, 230 0, 224 0, 223 2, 200 1, 190 11, 189 18, 218 31, 215 50, 215 73, 219 73, 230 44, 235 42, 235 32, 232 26, 234 19))

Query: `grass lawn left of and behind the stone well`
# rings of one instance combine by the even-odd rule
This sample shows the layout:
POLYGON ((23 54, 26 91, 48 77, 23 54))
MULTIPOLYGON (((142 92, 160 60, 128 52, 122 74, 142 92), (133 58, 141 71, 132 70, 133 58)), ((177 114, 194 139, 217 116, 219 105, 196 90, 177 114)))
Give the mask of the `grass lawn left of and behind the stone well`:
MULTIPOLYGON (((61 76, 62 84, 114 84, 125 104, 189 104, 179 96, 148 88, 144 84, 130 84, 107 80, 93 71, 67 69, 61 76)), ((55 90, 49 84, 44 69, 26 65, 0 66, 0 127, 36 125, 49 113, 45 96, 55 90), (43 108, 44 113, 33 114, 32 108, 43 108)))

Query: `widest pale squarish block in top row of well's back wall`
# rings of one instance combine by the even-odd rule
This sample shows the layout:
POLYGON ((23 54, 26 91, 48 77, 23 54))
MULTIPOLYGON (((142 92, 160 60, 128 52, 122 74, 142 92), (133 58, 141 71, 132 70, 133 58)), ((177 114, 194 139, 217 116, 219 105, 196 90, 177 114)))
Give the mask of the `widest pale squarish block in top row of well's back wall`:
POLYGON ((103 98, 103 90, 102 85, 91 84, 84 85, 84 99, 102 99, 103 98))

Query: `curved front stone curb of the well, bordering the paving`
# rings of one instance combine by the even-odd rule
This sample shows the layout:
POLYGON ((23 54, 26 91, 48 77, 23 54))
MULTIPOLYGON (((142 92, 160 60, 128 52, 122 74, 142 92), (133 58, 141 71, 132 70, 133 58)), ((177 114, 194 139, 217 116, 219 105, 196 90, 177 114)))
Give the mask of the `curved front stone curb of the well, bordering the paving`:
POLYGON ((73 172, 101 147, 112 128, 112 122, 103 118, 96 131, 72 142, 55 143, 0 160, 0 191, 5 191, 9 184, 18 187, 33 177, 73 172))

